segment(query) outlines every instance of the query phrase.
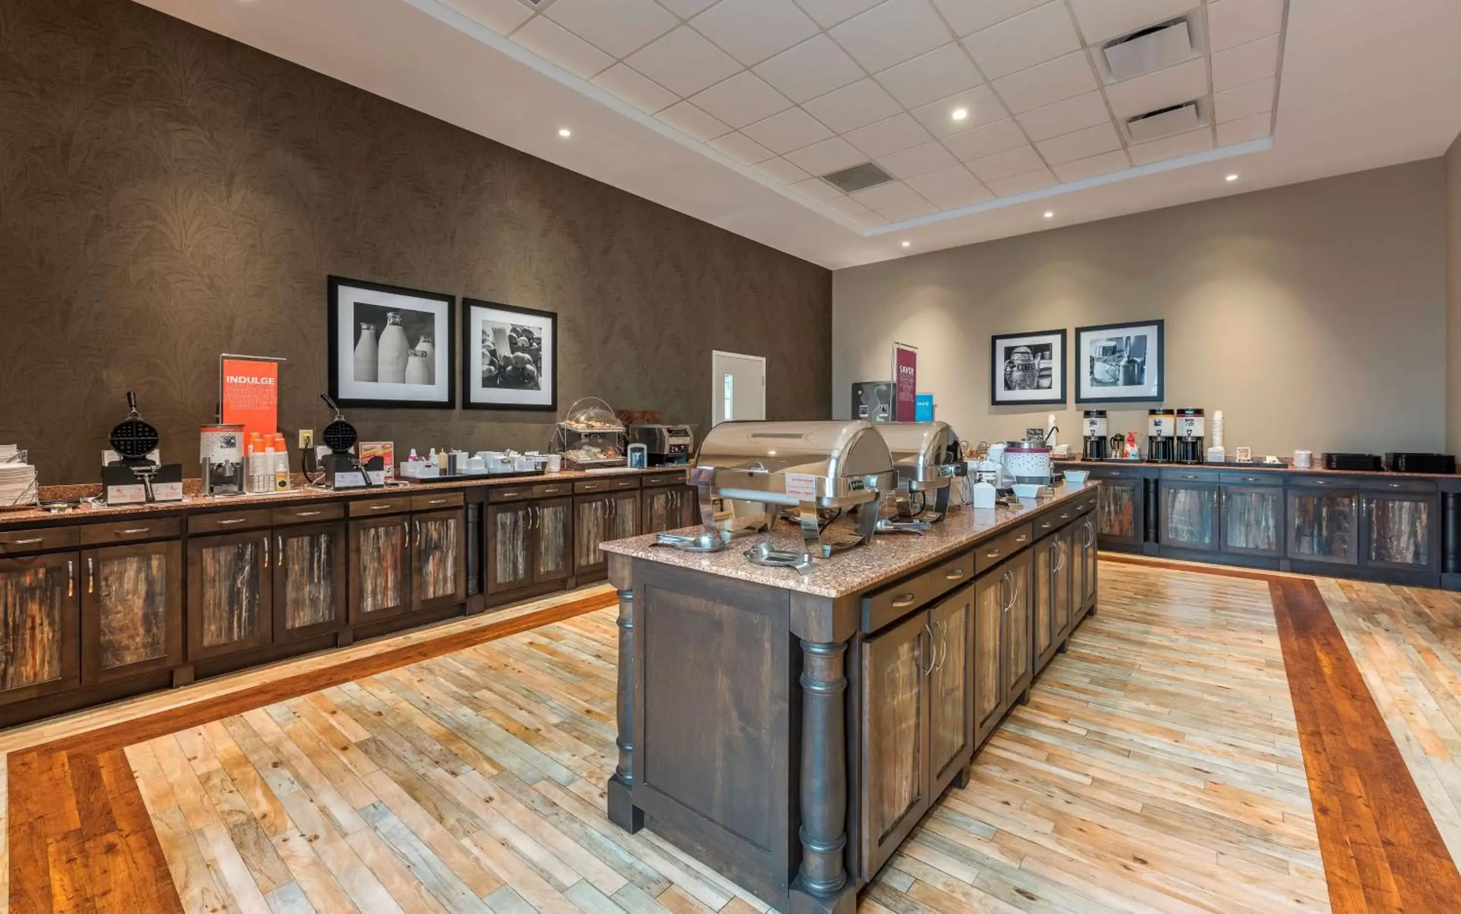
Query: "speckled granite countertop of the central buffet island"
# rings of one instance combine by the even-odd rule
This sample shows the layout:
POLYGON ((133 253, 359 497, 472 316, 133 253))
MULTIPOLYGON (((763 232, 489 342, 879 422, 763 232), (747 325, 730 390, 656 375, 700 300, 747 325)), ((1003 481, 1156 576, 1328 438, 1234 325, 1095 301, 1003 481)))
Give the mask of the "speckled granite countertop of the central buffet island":
MULTIPOLYGON (((1064 483, 1055 487, 1055 494, 1039 500, 1021 500, 1018 506, 958 507, 948 513, 942 524, 922 537, 913 534, 880 534, 863 547, 839 553, 831 559, 814 559, 815 570, 802 575, 789 567, 764 567, 752 564, 742 554, 758 543, 770 541, 776 548, 802 548, 801 529, 782 522, 770 534, 755 534, 735 540, 720 553, 687 553, 672 547, 653 545, 655 534, 614 540, 600 548, 606 553, 644 559, 660 564, 706 572, 736 581, 766 583, 815 597, 847 597, 866 591, 887 581, 937 562, 945 556, 969 548, 974 543, 1015 525, 1048 507, 1069 502, 1088 493, 1100 483, 1064 483)), ((697 532, 691 528, 681 532, 697 532)), ((837 531, 837 525, 833 525, 837 531)))

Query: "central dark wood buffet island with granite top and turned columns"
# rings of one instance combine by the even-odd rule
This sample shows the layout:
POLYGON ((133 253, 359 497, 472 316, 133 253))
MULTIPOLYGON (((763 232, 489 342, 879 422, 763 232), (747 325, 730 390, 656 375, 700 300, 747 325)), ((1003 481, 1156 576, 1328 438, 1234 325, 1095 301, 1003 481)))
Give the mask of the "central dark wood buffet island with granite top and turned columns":
MULTIPOLYGON (((811 551, 795 521, 717 551, 605 543, 619 597, 609 819, 777 910, 850 913, 1094 613, 1099 487, 958 507, 799 569, 751 560, 811 551)), ((850 518, 821 538, 839 525, 858 538, 850 518)))

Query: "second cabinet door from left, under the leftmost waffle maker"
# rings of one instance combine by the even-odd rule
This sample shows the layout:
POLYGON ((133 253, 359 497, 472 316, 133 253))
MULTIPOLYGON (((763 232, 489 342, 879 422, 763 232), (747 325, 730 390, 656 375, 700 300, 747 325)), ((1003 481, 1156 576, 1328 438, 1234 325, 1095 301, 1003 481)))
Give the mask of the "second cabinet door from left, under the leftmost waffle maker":
POLYGON ((183 544, 82 551, 82 681, 110 681, 183 662, 183 544))

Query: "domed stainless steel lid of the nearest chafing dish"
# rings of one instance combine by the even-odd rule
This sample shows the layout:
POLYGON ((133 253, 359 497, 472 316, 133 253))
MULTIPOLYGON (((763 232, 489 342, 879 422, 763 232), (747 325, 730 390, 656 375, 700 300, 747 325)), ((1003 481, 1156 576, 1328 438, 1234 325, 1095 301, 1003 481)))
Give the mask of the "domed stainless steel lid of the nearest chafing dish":
POLYGON ((897 487, 887 442, 863 421, 720 423, 700 443, 690 481, 722 499, 821 507, 897 487))

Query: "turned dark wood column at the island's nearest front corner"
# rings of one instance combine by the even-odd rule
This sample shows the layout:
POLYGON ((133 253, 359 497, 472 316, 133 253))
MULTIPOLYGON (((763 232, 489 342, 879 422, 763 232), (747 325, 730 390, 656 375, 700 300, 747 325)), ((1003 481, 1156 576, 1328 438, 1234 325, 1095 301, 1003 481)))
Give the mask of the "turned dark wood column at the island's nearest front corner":
POLYGON ((802 866, 792 911, 852 911, 847 885, 846 643, 802 641, 802 866))

